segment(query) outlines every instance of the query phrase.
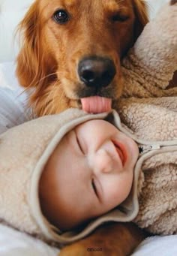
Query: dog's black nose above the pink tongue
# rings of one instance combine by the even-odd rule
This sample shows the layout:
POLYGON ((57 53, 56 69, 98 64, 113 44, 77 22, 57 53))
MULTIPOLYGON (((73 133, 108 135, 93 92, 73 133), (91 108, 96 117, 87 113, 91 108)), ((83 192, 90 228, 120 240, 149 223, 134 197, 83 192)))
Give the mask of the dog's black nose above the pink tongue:
POLYGON ((115 76, 116 70, 111 59, 93 56, 80 61, 78 74, 86 86, 106 87, 115 76))

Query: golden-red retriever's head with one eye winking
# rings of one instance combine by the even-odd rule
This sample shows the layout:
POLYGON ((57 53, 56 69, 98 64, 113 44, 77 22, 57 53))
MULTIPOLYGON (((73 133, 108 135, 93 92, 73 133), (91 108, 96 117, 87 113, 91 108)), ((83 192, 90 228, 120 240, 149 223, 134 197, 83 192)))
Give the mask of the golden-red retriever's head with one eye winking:
POLYGON ((58 113, 81 102, 88 110, 96 102, 89 103, 92 96, 110 98, 102 101, 101 111, 107 110, 121 95, 121 58, 147 21, 141 0, 34 2, 20 23, 17 77, 33 88, 35 113, 58 113))

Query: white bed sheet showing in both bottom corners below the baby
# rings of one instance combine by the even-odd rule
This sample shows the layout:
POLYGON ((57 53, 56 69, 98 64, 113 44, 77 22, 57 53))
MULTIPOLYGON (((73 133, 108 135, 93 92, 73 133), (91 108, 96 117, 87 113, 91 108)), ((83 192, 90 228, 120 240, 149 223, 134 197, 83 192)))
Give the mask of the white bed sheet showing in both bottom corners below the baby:
MULTIPOLYGON (((58 248, 0 224, 0 256, 57 256, 58 248)), ((131 256, 176 256, 177 235, 145 239, 131 256)))

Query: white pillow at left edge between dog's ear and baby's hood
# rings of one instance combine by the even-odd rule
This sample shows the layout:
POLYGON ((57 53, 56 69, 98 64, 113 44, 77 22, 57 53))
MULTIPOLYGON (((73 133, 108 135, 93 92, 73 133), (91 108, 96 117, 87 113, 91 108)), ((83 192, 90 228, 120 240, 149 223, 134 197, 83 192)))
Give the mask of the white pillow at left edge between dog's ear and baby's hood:
POLYGON ((27 93, 17 81, 13 62, 0 63, 0 134, 32 118, 27 93))

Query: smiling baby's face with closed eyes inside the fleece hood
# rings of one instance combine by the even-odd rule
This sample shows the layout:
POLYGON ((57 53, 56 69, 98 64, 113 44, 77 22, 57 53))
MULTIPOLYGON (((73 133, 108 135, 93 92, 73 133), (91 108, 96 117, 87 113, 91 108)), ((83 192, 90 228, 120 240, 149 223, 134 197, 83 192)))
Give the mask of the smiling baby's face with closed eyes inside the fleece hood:
POLYGON ((136 143, 109 122, 92 120, 68 132, 46 164, 58 187, 57 225, 71 229, 124 201, 137 158, 136 143))

